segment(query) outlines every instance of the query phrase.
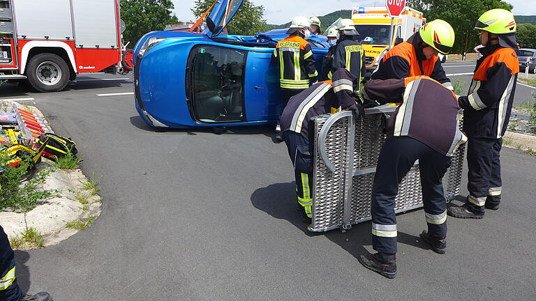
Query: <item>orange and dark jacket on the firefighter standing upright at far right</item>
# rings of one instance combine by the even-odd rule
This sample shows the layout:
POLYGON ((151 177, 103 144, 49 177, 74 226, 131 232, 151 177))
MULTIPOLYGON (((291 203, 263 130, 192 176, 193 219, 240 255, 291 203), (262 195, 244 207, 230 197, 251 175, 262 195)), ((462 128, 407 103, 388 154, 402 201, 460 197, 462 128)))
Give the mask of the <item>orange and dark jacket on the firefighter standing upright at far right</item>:
POLYGON ((459 98, 463 129, 468 137, 498 139, 508 127, 519 61, 512 48, 492 45, 479 50, 484 56, 477 61, 469 95, 459 98))

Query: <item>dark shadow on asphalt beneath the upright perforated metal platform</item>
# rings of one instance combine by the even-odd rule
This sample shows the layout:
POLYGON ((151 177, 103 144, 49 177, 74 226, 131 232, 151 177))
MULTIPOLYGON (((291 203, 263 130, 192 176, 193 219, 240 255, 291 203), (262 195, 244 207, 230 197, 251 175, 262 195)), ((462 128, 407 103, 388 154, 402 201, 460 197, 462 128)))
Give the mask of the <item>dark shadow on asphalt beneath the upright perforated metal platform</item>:
MULTIPOLYGON (((360 254, 368 254, 364 246, 372 245, 371 222, 362 222, 352 225, 348 231, 338 229, 313 233, 307 230, 307 224, 301 222, 303 210, 296 200, 296 186, 292 183, 276 183, 268 187, 262 187, 251 194, 253 207, 268 213, 276 219, 285 219, 295 225, 307 236, 323 235, 341 248, 345 249, 355 258, 360 254)), ((420 249, 430 249, 418 236, 398 232, 398 242, 420 249)))

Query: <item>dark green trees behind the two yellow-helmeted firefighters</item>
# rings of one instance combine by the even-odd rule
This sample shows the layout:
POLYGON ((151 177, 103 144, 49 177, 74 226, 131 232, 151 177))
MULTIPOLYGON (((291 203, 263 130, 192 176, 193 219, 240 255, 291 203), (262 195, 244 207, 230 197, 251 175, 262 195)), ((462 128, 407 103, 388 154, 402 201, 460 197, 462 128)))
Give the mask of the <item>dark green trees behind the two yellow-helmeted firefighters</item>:
POLYGON ((429 22, 435 19, 449 22, 456 33, 452 53, 458 54, 470 52, 480 44, 479 32, 473 28, 478 17, 486 10, 512 10, 510 4, 501 0, 409 0, 408 6, 421 10, 429 22))

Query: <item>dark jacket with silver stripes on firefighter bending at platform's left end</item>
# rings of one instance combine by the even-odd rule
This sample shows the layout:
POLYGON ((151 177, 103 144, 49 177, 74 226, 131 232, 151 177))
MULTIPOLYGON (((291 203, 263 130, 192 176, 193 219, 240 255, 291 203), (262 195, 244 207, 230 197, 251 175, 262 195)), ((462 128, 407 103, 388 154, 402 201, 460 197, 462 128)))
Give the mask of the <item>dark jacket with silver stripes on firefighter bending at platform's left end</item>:
MULTIPOLYGON (((359 79, 348 70, 340 68, 333 75, 333 82, 313 84, 298 95, 292 96, 283 114, 279 118, 283 132, 291 130, 310 139, 311 118, 326 114, 332 108, 348 108, 356 104, 354 89, 359 86, 359 79)), ((312 140, 311 140, 312 141, 312 140)))

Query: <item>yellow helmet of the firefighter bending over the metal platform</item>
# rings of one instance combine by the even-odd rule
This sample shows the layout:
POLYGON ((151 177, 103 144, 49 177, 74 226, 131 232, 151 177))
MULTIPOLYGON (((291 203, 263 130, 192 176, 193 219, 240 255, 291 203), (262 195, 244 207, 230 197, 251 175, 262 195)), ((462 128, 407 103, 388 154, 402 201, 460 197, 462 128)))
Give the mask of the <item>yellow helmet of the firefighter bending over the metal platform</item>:
POLYGON ((422 41, 440 54, 447 54, 454 45, 454 29, 446 21, 437 19, 419 29, 422 41))

